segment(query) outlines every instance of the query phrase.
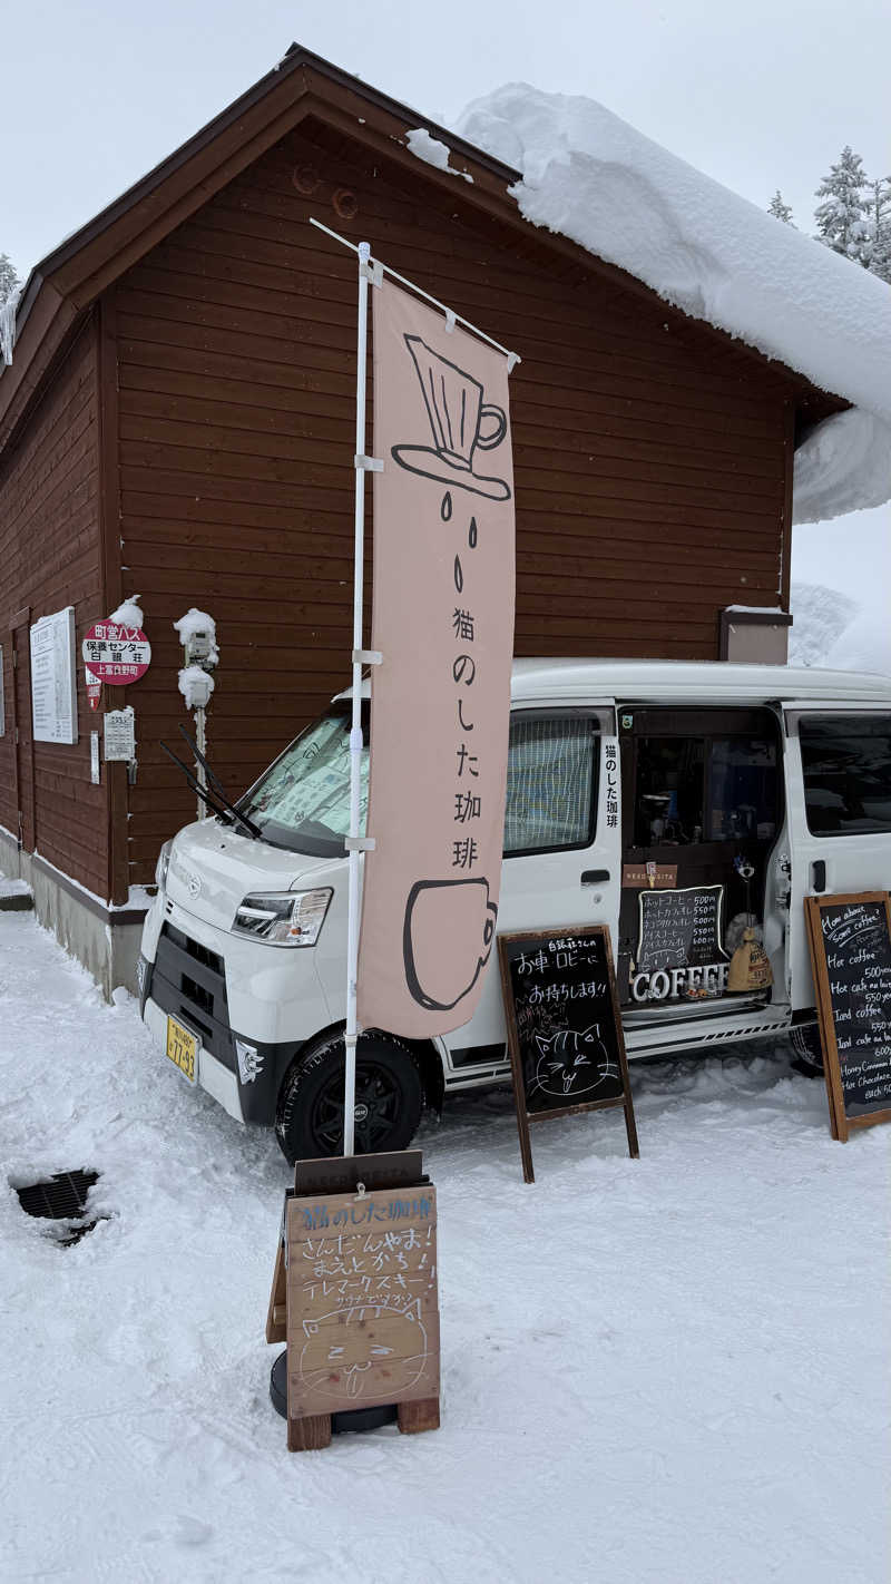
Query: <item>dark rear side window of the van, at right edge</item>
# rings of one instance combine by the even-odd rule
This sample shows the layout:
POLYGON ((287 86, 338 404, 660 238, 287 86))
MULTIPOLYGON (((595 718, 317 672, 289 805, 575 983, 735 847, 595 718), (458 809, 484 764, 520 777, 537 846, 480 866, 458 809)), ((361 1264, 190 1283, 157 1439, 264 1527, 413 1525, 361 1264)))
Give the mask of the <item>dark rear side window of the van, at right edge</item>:
POLYGON ((891 830, 891 716, 802 716, 798 732, 810 833, 891 830))

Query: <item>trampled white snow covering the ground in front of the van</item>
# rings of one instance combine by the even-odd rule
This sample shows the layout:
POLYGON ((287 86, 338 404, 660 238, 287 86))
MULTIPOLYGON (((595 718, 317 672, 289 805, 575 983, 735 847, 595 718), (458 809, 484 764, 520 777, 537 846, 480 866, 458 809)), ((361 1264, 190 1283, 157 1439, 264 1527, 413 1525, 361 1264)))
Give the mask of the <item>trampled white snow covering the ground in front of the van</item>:
POLYGON ((443 1427, 288 1454, 263 1327, 288 1171, 0 914, 0 1576, 878 1584, 891 1129, 785 1053, 535 1129, 426 1126, 443 1427), (70 1248, 14 1186, 93 1167, 70 1248))

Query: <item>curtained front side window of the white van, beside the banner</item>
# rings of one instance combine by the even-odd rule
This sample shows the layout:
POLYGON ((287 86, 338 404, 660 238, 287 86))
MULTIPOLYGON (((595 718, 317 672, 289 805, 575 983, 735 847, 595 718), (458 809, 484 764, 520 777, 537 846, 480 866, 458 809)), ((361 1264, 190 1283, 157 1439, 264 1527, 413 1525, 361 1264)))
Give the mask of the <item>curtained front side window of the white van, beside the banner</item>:
POLYGON ((511 716, 505 855, 590 846, 598 744, 584 716, 511 716))

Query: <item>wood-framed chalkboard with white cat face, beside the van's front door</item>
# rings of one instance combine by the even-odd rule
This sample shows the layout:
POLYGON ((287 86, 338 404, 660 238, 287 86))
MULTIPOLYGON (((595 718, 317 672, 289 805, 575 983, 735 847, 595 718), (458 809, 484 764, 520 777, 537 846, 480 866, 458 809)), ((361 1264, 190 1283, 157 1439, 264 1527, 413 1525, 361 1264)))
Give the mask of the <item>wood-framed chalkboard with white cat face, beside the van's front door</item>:
POLYGON ((622 1106, 638 1156, 609 930, 570 925, 499 936, 524 1182, 530 1123, 622 1106))

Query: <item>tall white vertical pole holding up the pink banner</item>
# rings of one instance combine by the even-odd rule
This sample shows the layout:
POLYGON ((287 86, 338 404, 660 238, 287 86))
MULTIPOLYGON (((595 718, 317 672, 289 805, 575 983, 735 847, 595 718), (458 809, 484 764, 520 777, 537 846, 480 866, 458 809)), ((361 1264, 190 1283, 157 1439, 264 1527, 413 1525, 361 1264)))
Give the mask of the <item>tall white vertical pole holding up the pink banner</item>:
POLYGON ((350 841, 347 914, 347 1072, 343 1079, 343 1155, 356 1147, 356 977, 359 971, 359 840, 362 775, 362 575, 366 554, 366 361, 369 345, 370 242, 359 242, 359 334, 356 350, 356 532, 353 565, 353 722, 350 730, 350 841))

